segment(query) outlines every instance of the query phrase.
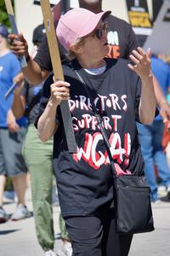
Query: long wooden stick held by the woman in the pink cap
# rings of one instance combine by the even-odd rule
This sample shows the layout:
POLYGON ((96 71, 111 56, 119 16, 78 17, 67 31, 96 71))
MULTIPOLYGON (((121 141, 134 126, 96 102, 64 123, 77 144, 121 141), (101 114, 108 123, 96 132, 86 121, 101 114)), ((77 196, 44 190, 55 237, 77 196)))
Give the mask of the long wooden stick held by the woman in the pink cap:
MULTIPOLYGON (((44 26, 46 28, 46 34, 48 38, 48 48, 51 56, 52 67, 54 70, 54 79, 63 80, 64 75, 61 67, 60 55, 59 55, 59 47, 57 43, 57 38, 54 30, 54 20, 52 17, 50 4, 48 0, 41 0, 42 7, 42 16, 44 21, 44 26)), ((67 141, 67 146, 70 153, 77 152, 77 143, 74 135, 74 131, 72 128, 72 119, 71 113, 69 109, 68 101, 62 101, 60 104, 62 119, 65 128, 65 137, 67 141)))

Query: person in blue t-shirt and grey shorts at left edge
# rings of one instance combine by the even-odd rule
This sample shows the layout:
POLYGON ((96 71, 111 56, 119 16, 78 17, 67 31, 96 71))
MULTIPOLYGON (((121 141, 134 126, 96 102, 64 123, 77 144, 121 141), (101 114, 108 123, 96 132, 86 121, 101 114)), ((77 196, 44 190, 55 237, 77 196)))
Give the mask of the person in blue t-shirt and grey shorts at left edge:
POLYGON ((17 208, 12 220, 31 216, 27 210, 26 164, 21 149, 26 134, 26 119, 15 119, 11 111, 13 94, 5 100, 5 93, 13 84, 14 77, 20 73, 20 62, 8 48, 8 30, 0 25, 0 222, 8 219, 3 208, 3 192, 6 177, 11 177, 17 195, 17 208))

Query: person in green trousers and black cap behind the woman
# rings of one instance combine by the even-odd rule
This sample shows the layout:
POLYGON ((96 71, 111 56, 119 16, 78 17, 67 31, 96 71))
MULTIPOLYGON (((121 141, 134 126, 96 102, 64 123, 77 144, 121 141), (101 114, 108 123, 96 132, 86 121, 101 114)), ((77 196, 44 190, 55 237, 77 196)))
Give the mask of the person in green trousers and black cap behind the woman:
MULTIPOLYGON (((39 25, 34 29, 32 37, 34 52, 32 52, 32 55, 36 55, 44 35, 45 29, 43 25, 39 25)), ((44 256, 55 256, 52 207, 53 139, 51 138, 47 143, 42 143, 34 126, 42 96, 43 83, 31 86, 25 80, 23 85, 22 80, 23 74, 15 78, 18 86, 14 90, 12 110, 15 118, 20 118, 25 114, 28 119, 24 157, 31 175, 31 198, 37 240, 44 251, 44 256)))

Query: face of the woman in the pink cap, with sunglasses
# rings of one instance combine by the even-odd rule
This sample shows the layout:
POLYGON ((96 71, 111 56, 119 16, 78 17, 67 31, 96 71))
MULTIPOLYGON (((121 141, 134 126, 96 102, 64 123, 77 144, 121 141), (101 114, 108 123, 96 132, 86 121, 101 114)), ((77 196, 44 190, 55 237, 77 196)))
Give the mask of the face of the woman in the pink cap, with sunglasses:
POLYGON ((103 59, 108 54, 107 23, 99 21, 98 26, 82 41, 82 54, 96 61, 103 59))

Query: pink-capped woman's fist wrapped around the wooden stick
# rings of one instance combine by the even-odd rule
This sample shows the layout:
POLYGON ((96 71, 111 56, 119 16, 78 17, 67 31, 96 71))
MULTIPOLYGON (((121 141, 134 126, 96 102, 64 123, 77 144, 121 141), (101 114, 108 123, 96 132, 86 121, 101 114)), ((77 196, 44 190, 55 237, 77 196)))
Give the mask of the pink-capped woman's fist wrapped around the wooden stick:
POLYGON ((65 81, 56 81, 51 84, 51 96, 50 101, 54 105, 59 106, 61 101, 67 101, 70 99, 70 87, 71 84, 65 81))

